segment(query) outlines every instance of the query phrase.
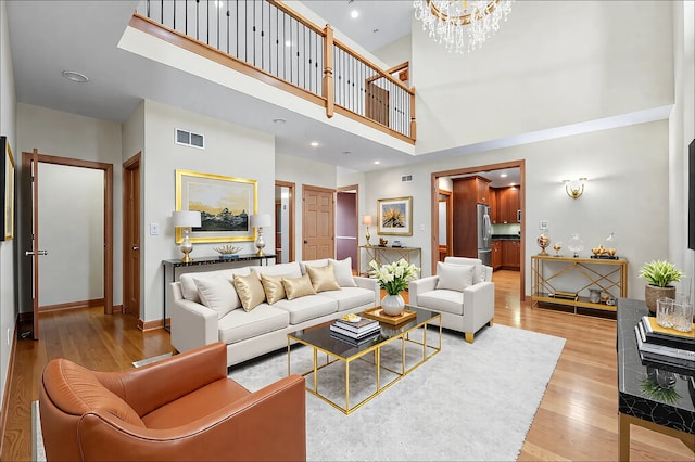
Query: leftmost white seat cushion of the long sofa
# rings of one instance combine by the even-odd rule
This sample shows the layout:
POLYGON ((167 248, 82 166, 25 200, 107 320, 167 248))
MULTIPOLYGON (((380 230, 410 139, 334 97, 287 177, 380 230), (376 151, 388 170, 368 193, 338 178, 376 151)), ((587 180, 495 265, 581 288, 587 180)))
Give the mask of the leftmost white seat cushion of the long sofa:
POLYGON ((290 316, 286 310, 261 304, 252 311, 236 309, 217 321, 219 339, 232 344, 287 328, 290 316))

